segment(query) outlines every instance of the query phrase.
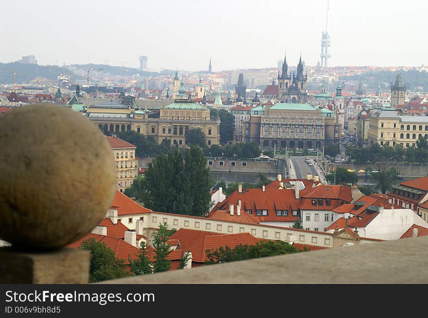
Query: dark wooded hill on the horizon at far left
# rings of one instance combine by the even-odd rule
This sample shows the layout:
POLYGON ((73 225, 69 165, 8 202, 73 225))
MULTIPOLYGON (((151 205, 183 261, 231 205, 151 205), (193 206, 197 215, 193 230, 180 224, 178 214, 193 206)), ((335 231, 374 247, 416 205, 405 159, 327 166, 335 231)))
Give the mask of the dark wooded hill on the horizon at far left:
POLYGON ((23 64, 18 62, 0 63, 0 83, 13 84, 13 72, 16 72, 17 84, 28 84, 37 77, 56 81, 58 75, 70 76, 72 73, 65 67, 56 65, 23 64))

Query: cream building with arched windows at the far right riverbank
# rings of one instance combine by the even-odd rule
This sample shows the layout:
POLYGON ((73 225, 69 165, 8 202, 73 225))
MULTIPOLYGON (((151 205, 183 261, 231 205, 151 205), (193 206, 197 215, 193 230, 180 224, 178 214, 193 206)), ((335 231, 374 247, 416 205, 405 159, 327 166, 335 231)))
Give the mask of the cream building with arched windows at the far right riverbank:
POLYGON ((393 108, 379 109, 370 115, 369 144, 401 144, 407 148, 415 146, 420 136, 428 137, 427 116, 400 116, 393 108))

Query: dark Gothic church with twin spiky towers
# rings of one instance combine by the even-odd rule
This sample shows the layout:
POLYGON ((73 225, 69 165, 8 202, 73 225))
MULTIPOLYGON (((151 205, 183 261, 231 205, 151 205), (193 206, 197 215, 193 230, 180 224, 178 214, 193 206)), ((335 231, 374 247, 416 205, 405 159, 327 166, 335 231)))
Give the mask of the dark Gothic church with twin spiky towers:
POLYGON ((281 102, 286 103, 305 103, 307 102, 307 74, 303 74, 302 56, 300 57, 299 64, 297 65, 297 74, 291 71, 288 74, 288 65, 286 57, 281 75, 278 71, 278 98, 281 102))

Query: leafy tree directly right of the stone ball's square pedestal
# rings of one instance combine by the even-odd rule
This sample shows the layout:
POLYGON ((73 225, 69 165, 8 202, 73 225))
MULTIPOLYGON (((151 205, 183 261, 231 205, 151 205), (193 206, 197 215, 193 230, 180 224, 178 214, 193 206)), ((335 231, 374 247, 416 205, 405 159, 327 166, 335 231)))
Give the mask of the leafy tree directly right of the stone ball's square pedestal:
POLYGON ((114 257, 105 243, 90 237, 82 241, 80 249, 90 252, 89 283, 130 276, 125 261, 114 257))

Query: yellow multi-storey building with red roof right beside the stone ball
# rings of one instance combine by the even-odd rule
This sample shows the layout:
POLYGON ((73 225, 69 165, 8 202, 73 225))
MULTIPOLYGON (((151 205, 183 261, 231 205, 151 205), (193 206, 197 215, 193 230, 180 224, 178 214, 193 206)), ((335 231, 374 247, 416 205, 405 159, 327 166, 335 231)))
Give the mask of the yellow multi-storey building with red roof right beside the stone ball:
POLYGON ((132 181, 138 175, 138 159, 135 157, 137 147, 117 137, 107 136, 107 141, 116 161, 116 188, 120 192, 124 192, 127 187, 132 185, 132 181))

